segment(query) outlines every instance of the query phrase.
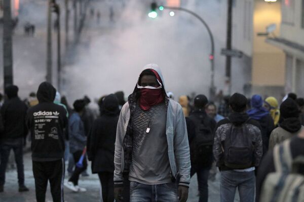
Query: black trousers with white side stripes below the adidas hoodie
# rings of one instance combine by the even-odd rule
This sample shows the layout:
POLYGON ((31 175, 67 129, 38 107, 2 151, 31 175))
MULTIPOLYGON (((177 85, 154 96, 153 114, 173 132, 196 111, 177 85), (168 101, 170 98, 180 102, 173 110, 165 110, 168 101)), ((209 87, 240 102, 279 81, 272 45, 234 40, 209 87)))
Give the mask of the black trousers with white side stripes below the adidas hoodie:
POLYGON ((63 200, 64 160, 37 162, 33 161, 33 174, 35 178, 36 200, 45 202, 48 181, 51 185, 53 202, 63 200))

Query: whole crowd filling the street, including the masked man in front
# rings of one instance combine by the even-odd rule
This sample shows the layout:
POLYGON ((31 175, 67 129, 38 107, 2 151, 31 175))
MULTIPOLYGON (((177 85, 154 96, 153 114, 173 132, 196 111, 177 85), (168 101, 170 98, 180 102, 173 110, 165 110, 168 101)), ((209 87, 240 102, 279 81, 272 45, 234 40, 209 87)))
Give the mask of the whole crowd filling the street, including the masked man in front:
POLYGON ((7 86, 0 192, 11 149, 19 191, 28 191, 22 148, 29 133, 38 202, 45 201, 48 182, 53 201, 63 201, 63 185, 85 192, 79 177, 88 161, 103 201, 186 201, 195 174, 199 201, 208 201, 208 180, 217 170, 221 202, 233 202, 236 189, 241 202, 303 201, 303 98, 289 93, 279 105, 275 97, 234 93, 215 104, 198 94, 175 102, 156 64, 146 65, 134 82, 127 102, 122 91, 102 96, 98 116, 87 96, 72 109, 48 82, 27 100, 18 97, 17 86, 7 86))

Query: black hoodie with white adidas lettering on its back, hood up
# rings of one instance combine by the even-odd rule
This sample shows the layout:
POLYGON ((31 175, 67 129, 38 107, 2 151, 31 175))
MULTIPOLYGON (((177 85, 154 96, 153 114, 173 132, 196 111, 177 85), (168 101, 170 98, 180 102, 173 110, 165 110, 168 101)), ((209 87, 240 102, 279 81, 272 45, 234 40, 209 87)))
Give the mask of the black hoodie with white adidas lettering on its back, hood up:
POLYGON ((56 161, 63 158, 64 133, 67 124, 66 111, 53 103, 56 89, 43 82, 37 90, 39 104, 30 108, 27 126, 31 131, 33 161, 56 161))

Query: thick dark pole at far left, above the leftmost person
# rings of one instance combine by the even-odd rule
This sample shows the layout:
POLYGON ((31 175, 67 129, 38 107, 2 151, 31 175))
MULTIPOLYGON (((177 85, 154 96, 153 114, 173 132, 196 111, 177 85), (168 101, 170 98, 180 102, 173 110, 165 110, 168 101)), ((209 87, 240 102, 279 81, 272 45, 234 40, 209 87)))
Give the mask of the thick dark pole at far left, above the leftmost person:
POLYGON ((13 41, 12 41, 12 12, 11 1, 3 1, 3 64, 4 88, 13 84, 13 41))

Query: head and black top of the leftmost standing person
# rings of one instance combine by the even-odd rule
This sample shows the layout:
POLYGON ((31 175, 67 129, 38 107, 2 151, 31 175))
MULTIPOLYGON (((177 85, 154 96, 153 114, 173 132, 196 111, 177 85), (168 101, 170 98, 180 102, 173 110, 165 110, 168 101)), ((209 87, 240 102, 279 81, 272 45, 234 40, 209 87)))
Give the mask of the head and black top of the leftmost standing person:
POLYGON ((8 100, 1 108, 4 132, 1 139, 22 138, 27 135, 25 117, 26 105, 18 97, 18 87, 11 85, 6 87, 5 93, 8 100))

